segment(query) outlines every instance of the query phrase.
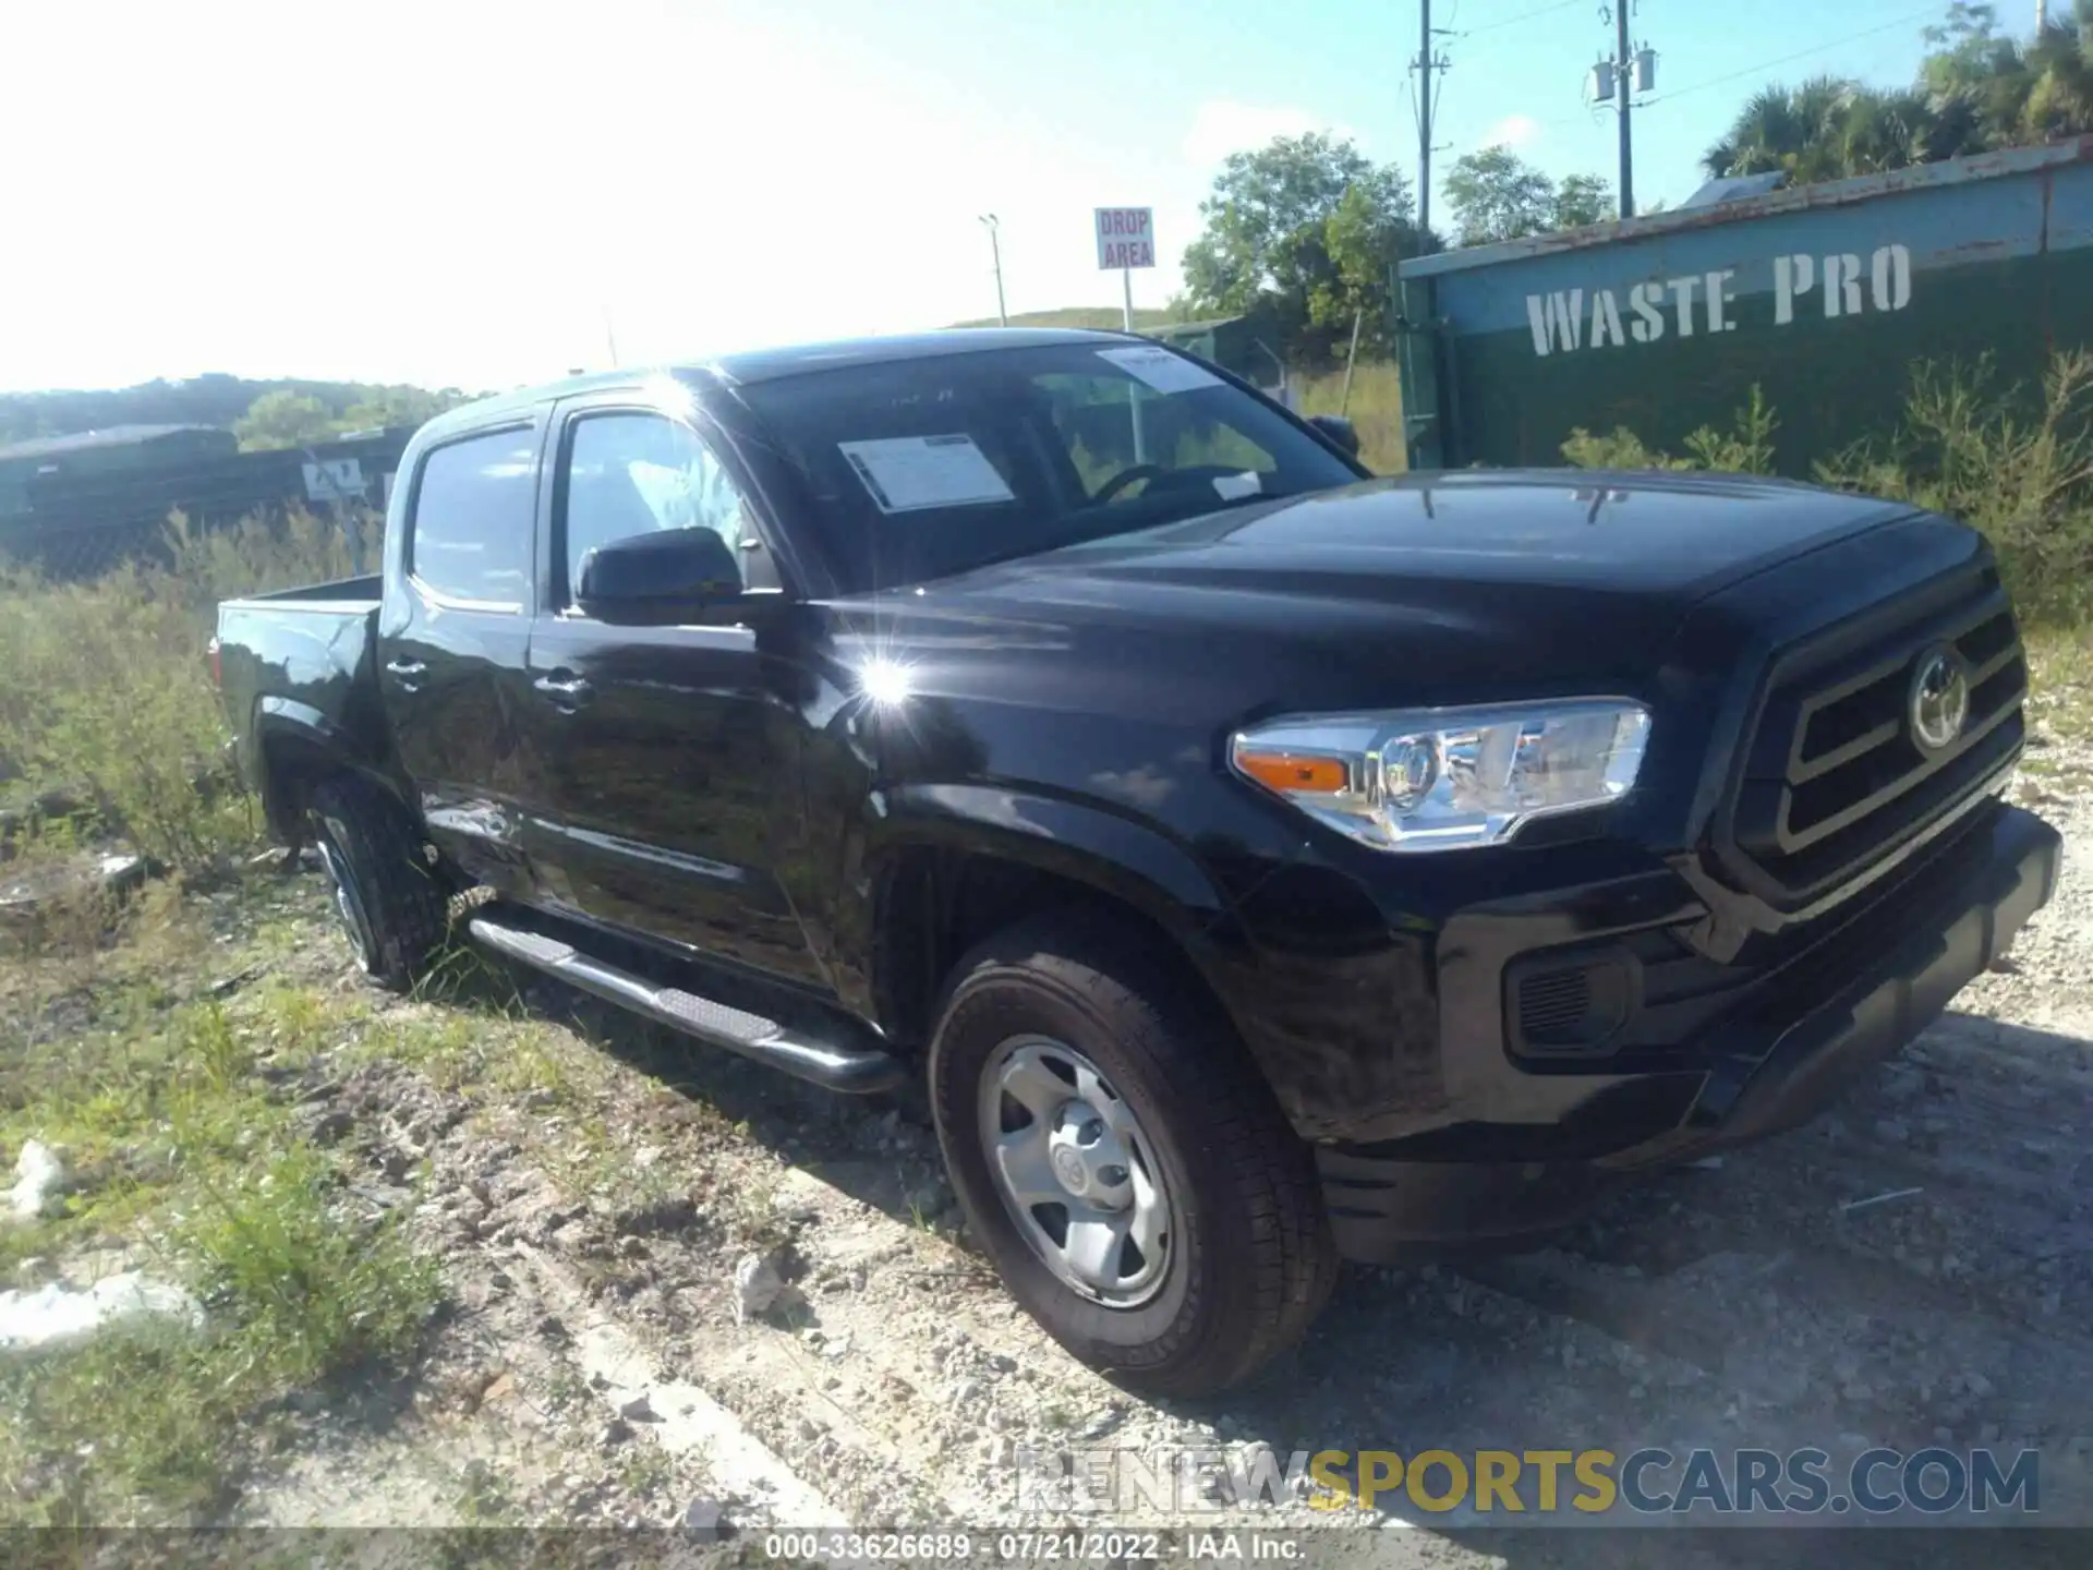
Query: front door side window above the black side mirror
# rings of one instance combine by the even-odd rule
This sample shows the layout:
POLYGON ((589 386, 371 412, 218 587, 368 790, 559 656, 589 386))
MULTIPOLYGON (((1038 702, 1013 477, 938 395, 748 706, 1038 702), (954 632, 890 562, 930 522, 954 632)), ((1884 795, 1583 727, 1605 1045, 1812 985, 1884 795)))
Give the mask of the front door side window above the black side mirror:
POLYGON ((661 414, 582 414, 561 481, 569 603, 582 557, 634 534, 712 530, 741 557, 741 492, 689 425, 661 414))

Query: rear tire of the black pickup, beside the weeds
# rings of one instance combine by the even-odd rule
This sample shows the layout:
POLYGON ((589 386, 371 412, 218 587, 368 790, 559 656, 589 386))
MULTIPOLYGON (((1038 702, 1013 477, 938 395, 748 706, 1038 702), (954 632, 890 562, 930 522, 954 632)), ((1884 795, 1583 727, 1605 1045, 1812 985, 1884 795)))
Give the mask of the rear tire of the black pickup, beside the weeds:
POLYGON ((421 835, 389 798, 354 777, 314 787, 308 816, 358 965, 387 992, 412 990, 450 925, 421 835))

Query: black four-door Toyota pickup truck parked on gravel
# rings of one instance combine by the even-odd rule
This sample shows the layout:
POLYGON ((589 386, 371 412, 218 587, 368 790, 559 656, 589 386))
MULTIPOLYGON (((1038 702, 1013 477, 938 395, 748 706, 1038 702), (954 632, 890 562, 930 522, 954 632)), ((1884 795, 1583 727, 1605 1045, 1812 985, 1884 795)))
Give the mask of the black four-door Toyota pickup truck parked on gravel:
POLYGON ((220 680, 379 982, 456 923, 925 1076, 1026 1308, 1216 1390, 1342 1256, 1810 1116, 2060 858, 1961 523, 1354 454, 1107 333, 576 379, 427 425, 383 578, 226 603, 220 680))

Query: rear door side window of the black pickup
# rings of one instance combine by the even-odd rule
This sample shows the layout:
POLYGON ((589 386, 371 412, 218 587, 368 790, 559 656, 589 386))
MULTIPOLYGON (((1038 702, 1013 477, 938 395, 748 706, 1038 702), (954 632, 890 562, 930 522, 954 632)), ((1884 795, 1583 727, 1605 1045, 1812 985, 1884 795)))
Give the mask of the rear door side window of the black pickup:
POLYGON ((421 461, 408 567, 450 599, 523 609, 530 595, 538 433, 492 431, 421 461))

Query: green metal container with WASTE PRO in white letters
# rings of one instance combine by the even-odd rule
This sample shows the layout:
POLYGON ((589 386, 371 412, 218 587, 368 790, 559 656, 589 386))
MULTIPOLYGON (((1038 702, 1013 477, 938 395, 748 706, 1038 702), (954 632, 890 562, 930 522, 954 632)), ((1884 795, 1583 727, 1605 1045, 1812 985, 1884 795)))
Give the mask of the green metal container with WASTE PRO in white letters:
POLYGON ((1781 473, 1894 429, 1915 362, 2030 402, 2093 343, 2093 136, 1400 264, 1413 469, 1679 452, 1756 383, 1781 473))

